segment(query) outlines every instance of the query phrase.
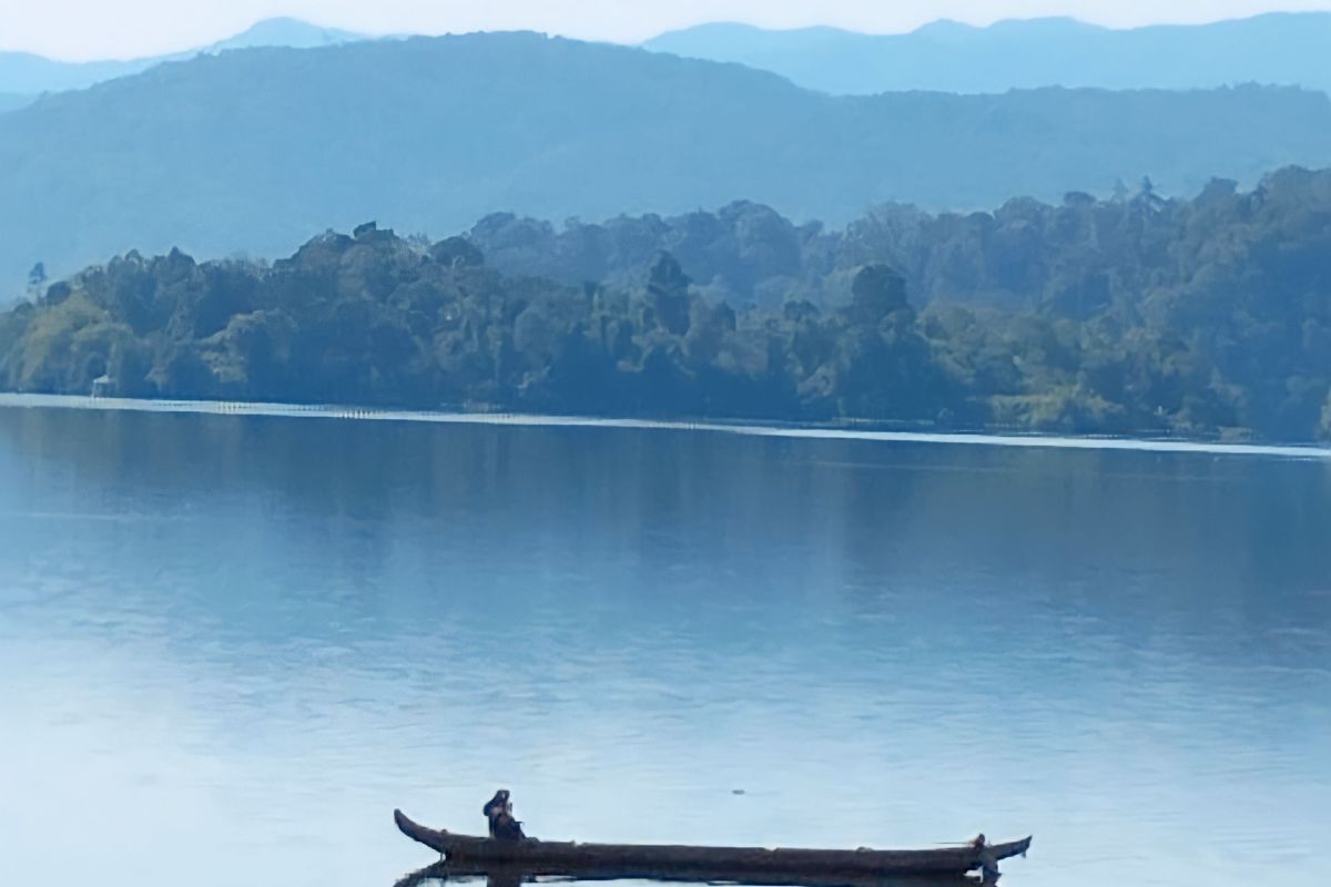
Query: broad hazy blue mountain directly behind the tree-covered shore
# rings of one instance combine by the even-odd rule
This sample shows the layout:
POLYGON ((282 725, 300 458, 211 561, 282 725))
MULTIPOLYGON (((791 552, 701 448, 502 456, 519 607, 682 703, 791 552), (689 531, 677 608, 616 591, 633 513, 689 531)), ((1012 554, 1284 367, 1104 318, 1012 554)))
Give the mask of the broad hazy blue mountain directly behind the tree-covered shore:
POLYGON ((258 48, 0 117, 0 281, 129 249, 289 251, 374 218, 602 219, 732 199, 840 225, 885 201, 1195 193, 1331 164, 1331 100, 1292 88, 829 97, 740 65, 532 33, 258 48))

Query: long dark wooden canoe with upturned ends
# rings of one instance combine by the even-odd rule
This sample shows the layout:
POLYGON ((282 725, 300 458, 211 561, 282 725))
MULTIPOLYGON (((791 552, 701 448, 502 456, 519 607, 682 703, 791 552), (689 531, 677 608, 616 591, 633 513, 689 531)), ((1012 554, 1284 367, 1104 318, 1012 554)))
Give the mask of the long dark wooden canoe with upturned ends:
POLYGON ((1024 855, 1030 838, 984 850, 970 846, 934 850, 771 850, 765 847, 689 847, 680 844, 583 844, 563 840, 494 840, 429 828, 401 810, 393 819, 407 838, 442 854, 453 864, 520 868, 531 875, 614 876, 689 880, 888 878, 964 875, 1024 855))

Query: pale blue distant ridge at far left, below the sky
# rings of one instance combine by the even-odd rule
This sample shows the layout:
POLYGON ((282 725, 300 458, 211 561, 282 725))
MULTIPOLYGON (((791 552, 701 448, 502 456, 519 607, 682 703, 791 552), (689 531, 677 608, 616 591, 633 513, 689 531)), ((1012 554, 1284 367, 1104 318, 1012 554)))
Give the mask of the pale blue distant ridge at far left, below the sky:
MULTIPOLYGON (((200 53, 217 53, 228 49, 249 49, 253 47, 310 49, 365 39, 363 35, 350 31, 322 28, 297 19, 266 19, 234 37, 228 37, 226 40, 220 40, 198 49, 145 59, 59 61, 27 52, 0 52, 0 93, 9 93, 16 98, 25 97, 25 100, 31 100, 37 93, 87 89, 93 84, 136 74, 165 61, 192 59, 200 53)), ((0 112, 4 110, 7 110, 7 102, 0 96, 0 112)))

